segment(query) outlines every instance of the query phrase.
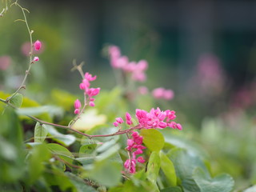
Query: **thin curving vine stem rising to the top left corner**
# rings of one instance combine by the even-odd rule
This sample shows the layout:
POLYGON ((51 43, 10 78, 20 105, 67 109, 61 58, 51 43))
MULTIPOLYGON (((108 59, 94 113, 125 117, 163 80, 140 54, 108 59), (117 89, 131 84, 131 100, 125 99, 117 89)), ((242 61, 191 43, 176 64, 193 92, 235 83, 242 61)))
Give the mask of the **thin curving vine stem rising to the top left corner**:
MULTIPOLYGON (((21 5, 18 4, 18 1, 14 2, 13 4, 10 5, 11 6, 18 6, 21 10, 22 10, 22 14, 23 14, 23 18, 24 18, 24 22, 26 23, 26 29, 28 30, 29 34, 30 34, 30 63, 29 63, 29 67, 28 69, 26 70, 26 73, 25 73, 25 76, 22 80, 22 83, 21 85, 18 87, 18 90, 16 90, 14 92, 14 94, 12 94, 9 98, 6 98, 6 102, 9 102, 11 98, 14 97, 15 94, 18 94, 18 91, 21 90, 22 88, 26 89, 26 86, 25 86, 25 82, 26 82, 26 78, 27 76, 30 74, 30 69, 32 67, 32 65, 34 64, 34 61, 32 60, 32 52, 33 52, 33 40, 32 40, 32 34, 33 34, 33 30, 30 30, 30 26, 27 22, 27 19, 26 19, 26 13, 25 13, 25 8, 23 8, 21 5)), ((30 13, 28 10, 26 10, 28 13, 30 13)))

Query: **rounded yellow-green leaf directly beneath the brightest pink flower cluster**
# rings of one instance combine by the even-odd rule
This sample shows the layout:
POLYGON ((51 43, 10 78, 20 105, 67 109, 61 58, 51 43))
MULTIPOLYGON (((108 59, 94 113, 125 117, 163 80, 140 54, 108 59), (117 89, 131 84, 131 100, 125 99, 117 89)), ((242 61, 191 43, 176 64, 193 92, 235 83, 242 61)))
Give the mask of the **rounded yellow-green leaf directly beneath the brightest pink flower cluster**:
POLYGON ((143 137, 143 143, 151 151, 162 150, 165 144, 165 139, 158 130, 142 130, 140 135, 143 137))

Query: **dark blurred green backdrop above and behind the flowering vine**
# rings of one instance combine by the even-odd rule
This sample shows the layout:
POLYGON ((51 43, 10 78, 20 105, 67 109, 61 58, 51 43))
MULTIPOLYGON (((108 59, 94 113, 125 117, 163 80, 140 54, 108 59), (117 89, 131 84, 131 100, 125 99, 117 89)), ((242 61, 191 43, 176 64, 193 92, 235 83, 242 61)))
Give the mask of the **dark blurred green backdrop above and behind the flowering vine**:
MULTIPOLYGON (((34 40, 40 39, 44 44, 43 53, 38 55, 41 65, 34 67, 30 78, 40 82, 38 90, 58 86, 78 92, 75 86, 80 81, 78 74, 70 73, 73 59, 85 61, 86 70, 98 75, 98 86, 110 89, 115 85, 113 72, 102 51, 109 44, 119 46, 130 61, 146 59, 150 67, 148 81, 143 85, 150 90, 158 86, 174 90, 173 102, 187 108, 184 110, 196 110, 198 118, 218 114, 233 102, 232 95, 243 90, 251 92, 254 87, 256 3, 253 1, 21 3, 30 10, 28 22, 35 31, 34 40), (212 92, 210 98, 197 85, 205 80, 194 82, 200 76, 198 63, 205 55, 208 60, 216 58, 222 73, 219 85, 214 85, 221 86, 218 94, 207 86, 206 92, 212 92), (191 97, 198 101, 191 103, 187 99, 191 97), (203 109, 202 113, 198 107, 203 109), (212 109, 206 110, 209 107, 212 109)), ((21 11, 12 7, 0 22, 0 55, 10 55, 17 75, 26 66, 21 46, 29 40, 24 23, 13 22, 21 17, 21 11)))

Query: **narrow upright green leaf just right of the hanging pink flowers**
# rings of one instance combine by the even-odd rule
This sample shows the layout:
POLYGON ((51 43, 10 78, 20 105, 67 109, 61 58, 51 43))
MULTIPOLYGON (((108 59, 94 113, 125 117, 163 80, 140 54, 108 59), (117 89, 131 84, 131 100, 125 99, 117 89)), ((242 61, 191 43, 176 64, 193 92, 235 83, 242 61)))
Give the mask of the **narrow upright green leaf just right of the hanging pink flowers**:
POLYGON ((147 178, 151 182, 156 183, 159 170, 160 170, 160 164, 161 164, 161 160, 158 152, 153 151, 152 154, 150 155, 150 159, 147 164, 147 170, 146 170, 147 178))

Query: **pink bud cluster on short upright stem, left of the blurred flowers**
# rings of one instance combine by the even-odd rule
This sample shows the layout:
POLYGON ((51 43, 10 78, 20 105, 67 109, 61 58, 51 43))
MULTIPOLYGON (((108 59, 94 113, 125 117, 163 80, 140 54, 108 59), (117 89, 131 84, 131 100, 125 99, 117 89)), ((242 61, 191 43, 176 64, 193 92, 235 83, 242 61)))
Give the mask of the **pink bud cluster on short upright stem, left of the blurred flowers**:
MULTIPOLYGON (((97 94, 99 94, 99 91, 101 88, 90 88, 90 82, 94 81, 97 78, 95 75, 94 77, 86 72, 84 78, 82 79, 82 82, 79 84, 79 88, 81 90, 84 90, 85 96, 88 95, 88 98, 86 98, 86 102, 89 102, 89 106, 95 106, 94 101, 97 94)), ((74 102, 74 114, 79 114, 80 113, 80 108, 81 108, 81 102, 77 99, 74 102), (79 104, 80 103, 80 104, 79 104)))

